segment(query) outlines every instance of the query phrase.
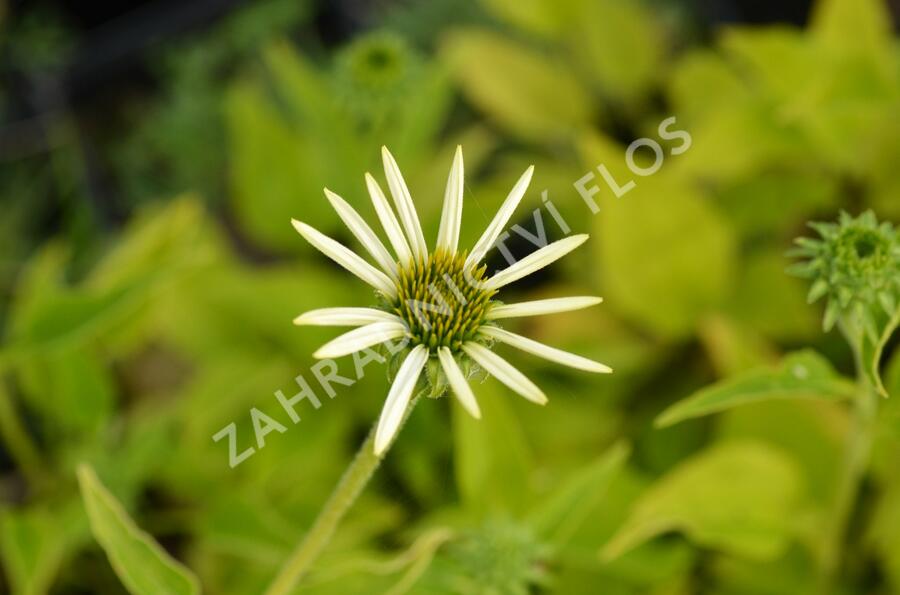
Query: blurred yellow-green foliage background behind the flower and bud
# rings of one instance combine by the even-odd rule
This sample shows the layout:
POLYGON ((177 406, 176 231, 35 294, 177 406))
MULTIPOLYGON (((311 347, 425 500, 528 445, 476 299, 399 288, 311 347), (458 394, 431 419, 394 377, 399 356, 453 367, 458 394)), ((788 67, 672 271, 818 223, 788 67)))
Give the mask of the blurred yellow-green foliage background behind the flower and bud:
MULTIPOLYGON (((493 380, 481 422, 420 406, 298 592, 812 592, 845 404, 654 419, 808 346, 852 375, 784 253, 840 209, 900 219, 896 3, 75 6, 0 3, 0 592, 125 592, 83 461, 205 592, 261 592, 387 391, 378 370, 296 426, 280 410, 329 337, 291 319, 370 297, 290 218, 346 240, 322 188, 371 215, 387 145, 433 237, 457 144, 464 243, 531 163, 519 223, 546 189, 592 234, 505 299, 604 296, 514 326, 616 373, 530 360, 545 408, 493 380), (644 136, 665 161, 640 178, 624 155, 644 136), (636 186, 598 176, 593 215, 573 184, 599 164, 636 186), (212 436, 234 421, 256 446, 251 407, 290 427, 231 469, 212 436)), ((900 593, 895 343, 840 593, 900 593)))

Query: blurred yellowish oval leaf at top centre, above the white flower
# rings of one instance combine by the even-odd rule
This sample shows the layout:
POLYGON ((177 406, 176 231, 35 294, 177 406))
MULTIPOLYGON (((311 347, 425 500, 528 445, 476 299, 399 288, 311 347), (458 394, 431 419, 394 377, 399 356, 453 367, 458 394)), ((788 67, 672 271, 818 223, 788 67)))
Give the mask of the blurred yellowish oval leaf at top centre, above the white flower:
POLYGON ((565 63, 480 29, 450 33, 441 57, 466 98, 515 135, 565 138, 590 123, 590 99, 565 63))

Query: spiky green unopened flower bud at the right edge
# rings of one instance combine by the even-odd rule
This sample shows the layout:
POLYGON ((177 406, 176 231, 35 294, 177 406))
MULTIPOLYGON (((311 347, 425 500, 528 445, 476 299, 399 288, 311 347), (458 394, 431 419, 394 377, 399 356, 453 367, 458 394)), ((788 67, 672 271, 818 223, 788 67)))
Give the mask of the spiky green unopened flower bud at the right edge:
POLYGON ((900 239, 893 225, 866 211, 841 213, 837 223, 810 224, 818 239, 798 238, 791 254, 804 262, 791 267, 809 279, 809 302, 826 299, 824 327, 841 319, 877 340, 900 306, 900 239))

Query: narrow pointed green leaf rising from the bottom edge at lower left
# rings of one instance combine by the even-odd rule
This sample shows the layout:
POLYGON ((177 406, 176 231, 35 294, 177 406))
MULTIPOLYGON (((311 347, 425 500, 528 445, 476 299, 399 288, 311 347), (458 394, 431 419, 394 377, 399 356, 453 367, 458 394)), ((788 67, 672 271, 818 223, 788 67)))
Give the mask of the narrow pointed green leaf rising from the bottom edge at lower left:
POLYGON ((133 595, 196 595, 197 578, 142 531, 100 483, 88 465, 78 468, 78 482, 94 537, 133 595))

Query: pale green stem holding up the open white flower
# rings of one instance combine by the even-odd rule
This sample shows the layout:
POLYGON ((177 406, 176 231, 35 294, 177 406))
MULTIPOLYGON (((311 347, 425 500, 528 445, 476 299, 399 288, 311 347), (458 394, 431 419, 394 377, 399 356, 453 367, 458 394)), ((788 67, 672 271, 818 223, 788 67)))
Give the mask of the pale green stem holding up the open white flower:
MULTIPOLYGON (((403 413, 401 427, 412 413, 419 397, 420 394, 417 394, 410 400, 403 413)), ((375 428, 377 425, 376 422, 372 426, 368 437, 356 452, 350 466, 344 471, 344 475, 328 498, 328 502, 319 511, 319 516, 316 517, 309 532, 281 568, 281 572, 278 573, 265 595, 288 595, 291 593, 322 550, 325 549, 325 546, 328 545, 328 542, 331 541, 335 529, 369 483, 375 470, 378 469, 378 465, 381 464, 382 457, 375 455, 375 428)))

